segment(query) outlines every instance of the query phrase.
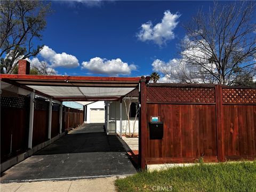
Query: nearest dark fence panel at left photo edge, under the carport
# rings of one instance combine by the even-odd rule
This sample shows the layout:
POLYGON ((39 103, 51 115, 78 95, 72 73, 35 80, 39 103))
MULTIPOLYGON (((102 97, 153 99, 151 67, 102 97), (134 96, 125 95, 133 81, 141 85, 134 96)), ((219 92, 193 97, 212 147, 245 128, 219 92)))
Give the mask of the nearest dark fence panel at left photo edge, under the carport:
POLYGON ((29 98, 1 97, 1 162, 28 147, 29 98))

